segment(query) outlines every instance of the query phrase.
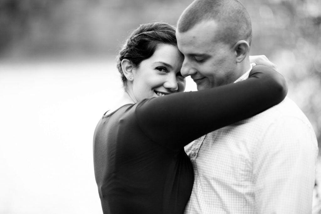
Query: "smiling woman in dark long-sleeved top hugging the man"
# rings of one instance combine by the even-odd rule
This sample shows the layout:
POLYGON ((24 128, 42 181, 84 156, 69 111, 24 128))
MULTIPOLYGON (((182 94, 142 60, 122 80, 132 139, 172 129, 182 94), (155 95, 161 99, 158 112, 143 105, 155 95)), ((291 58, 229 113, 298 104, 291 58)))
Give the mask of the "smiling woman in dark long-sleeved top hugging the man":
POLYGON ((182 62, 175 28, 166 23, 141 25, 120 51, 124 96, 94 133, 104 213, 182 213, 194 179, 184 146, 286 95, 282 76, 265 66, 256 66, 239 83, 176 93, 185 90, 182 62))

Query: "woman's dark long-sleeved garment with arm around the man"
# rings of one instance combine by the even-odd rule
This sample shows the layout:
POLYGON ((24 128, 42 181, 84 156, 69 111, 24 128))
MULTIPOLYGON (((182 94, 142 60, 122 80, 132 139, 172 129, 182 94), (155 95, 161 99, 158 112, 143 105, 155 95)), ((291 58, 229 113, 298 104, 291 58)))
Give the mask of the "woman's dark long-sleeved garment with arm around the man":
POLYGON ((104 214, 183 213, 193 187, 189 142, 281 102, 284 78, 255 66, 248 80, 127 104, 100 119, 94 170, 104 214))

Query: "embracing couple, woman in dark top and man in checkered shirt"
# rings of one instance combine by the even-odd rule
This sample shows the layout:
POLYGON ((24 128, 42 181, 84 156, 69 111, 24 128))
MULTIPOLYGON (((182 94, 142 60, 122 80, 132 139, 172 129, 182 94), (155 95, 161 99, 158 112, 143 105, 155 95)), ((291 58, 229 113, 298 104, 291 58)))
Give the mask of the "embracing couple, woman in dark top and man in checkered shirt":
POLYGON ((315 134, 275 65, 250 60, 251 38, 237 0, 195 0, 177 29, 131 33, 123 97, 94 133, 104 213, 311 213, 315 134))

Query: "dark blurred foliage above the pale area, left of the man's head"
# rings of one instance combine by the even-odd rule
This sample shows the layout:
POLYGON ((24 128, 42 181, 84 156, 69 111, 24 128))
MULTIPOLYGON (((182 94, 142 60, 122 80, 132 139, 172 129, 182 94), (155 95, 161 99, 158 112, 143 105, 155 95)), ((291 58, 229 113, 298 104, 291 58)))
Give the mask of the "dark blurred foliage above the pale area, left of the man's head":
POLYGON ((111 54, 141 23, 175 25, 190 2, 0 0, 0 54, 111 54))

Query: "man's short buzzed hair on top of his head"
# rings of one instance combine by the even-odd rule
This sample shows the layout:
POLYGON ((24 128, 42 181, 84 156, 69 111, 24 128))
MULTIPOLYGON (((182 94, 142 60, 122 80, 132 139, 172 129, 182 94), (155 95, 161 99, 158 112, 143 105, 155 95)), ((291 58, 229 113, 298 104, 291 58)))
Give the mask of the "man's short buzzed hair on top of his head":
POLYGON ((221 28, 219 39, 234 45, 252 41, 252 24, 244 5, 237 0, 195 0, 180 16, 177 31, 184 33, 202 21, 215 20, 221 28))

